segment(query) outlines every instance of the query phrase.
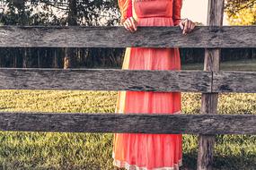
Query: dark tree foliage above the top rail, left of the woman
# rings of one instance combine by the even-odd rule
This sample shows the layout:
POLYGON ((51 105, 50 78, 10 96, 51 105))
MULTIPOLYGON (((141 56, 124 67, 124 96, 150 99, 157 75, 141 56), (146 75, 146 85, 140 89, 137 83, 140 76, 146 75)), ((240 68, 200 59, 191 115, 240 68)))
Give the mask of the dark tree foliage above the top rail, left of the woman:
MULTIPOLYGON (((3 24, 66 25, 71 0, 3 0, 3 24), (21 21, 22 19, 22 21, 21 21)), ((118 23, 119 12, 114 0, 77 0, 79 25, 113 25, 118 23)))

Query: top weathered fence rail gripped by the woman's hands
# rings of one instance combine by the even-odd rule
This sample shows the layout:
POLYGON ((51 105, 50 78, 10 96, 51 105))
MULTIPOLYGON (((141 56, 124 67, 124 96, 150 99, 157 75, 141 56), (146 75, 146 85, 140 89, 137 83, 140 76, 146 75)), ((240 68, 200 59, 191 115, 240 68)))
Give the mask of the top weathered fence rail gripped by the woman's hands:
POLYGON ((256 26, 176 27, 1 26, 0 47, 256 47, 256 26))

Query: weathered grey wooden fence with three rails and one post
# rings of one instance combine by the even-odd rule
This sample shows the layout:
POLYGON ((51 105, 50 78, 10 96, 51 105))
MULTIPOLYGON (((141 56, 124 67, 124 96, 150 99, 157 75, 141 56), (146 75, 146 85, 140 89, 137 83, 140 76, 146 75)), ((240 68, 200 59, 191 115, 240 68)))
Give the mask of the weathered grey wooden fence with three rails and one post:
POLYGON ((210 0, 208 26, 0 27, 0 47, 204 47, 204 71, 0 69, 0 89, 201 92, 201 115, 1 113, 0 129, 24 132, 199 134, 198 169, 211 169, 215 134, 256 134, 256 115, 217 115, 217 94, 256 92, 256 72, 219 71, 220 48, 256 47, 256 27, 222 25, 224 0, 210 0), (163 125, 164 124, 164 125, 163 125))

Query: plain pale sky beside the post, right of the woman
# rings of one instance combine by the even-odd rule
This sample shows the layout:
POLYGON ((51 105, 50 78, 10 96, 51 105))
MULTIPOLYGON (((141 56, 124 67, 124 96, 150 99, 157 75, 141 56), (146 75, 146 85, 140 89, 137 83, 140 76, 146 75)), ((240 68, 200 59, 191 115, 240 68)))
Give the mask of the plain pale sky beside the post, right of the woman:
MULTIPOLYGON (((202 22, 207 25, 207 0, 184 0, 181 9, 181 18, 202 22)), ((224 25, 228 25, 224 17, 224 25)))

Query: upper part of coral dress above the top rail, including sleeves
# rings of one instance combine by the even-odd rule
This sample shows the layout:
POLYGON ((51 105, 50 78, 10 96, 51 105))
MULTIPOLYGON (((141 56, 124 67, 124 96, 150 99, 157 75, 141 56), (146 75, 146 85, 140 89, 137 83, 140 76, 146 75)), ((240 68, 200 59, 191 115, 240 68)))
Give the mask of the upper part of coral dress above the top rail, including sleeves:
POLYGON ((118 0, 121 22, 136 16, 139 26, 175 26, 181 21, 182 0, 118 0))

